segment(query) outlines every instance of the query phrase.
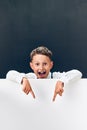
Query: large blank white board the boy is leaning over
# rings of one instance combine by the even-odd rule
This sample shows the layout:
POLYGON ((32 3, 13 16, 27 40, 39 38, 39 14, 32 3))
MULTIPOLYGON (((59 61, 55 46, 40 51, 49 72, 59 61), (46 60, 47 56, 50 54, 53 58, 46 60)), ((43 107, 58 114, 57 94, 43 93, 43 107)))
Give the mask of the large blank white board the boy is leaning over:
POLYGON ((36 98, 0 79, 0 130, 87 130, 87 79, 64 87, 52 101, 56 80, 30 80, 36 98))

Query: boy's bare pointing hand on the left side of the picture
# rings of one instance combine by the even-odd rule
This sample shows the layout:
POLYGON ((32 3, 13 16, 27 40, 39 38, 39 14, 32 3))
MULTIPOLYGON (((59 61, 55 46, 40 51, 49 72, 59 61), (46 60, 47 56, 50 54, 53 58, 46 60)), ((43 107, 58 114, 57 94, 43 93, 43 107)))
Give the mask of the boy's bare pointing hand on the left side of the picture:
POLYGON ((27 80, 27 78, 23 78, 23 80, 22 80, 22 90, 26 94, 31 93, 31 95, 33 96, 33 98, 35 98, 35 94, 34 94, 32 88, 31 88, 31 85, 30 85, 29 81, 27 80))

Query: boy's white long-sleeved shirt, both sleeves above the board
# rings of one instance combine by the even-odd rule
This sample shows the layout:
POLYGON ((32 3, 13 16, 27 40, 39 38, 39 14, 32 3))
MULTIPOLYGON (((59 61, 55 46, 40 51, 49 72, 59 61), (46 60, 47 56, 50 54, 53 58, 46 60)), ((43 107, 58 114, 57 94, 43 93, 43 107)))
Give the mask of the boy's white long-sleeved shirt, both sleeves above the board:
MULTIPOLYGON (((27 79, 37 79, 36 75, 34 73, 19 73, 15 70, 10 70, 6 74, 6 79, 12 80, 17 83, 21 83, 23 77, 26 77, 27 79)), ((58 79, 59 81, 62 81, 64 84, 72 81, 76 81, 82 77, 82 73, 79 70, 70 70, 68 72, 49 72, 49 75, 47 76, 47 79, 58 79), (52 75, 52 76, 51 76, 52 75)))

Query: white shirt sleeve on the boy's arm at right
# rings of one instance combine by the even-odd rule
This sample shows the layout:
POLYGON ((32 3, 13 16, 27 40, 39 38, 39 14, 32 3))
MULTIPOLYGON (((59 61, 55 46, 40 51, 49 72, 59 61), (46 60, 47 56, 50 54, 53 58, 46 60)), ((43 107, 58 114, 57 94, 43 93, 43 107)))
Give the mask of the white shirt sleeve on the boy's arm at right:
POLYGON ((82 73, 79 70, 70 70, 68 72, 54 72, 54 78, 57 78, 59 81, 64 84, 69 82, 74 82, 82 77, 82 73))

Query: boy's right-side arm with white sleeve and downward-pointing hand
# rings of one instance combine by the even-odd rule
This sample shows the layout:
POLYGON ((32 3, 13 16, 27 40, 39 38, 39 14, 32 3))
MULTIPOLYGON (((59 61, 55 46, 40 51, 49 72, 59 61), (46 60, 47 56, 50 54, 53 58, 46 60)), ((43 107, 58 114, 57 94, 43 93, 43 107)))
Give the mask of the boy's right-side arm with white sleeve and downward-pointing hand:
POLYGON ((62 96, 62 93, 64 92, 63 87, 64 87, 65 83, 75 82, 76 80, 80 79, 81 77, 82 77, 82 73, 78 70, 68 71, 68 72, 62 74, 61 76, 59 76, 59 78, 57 76, 58 81, 55 86, 53 101, 55 101, 57 94, 62 96))

